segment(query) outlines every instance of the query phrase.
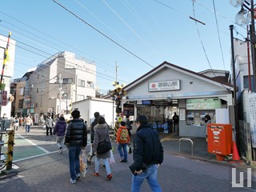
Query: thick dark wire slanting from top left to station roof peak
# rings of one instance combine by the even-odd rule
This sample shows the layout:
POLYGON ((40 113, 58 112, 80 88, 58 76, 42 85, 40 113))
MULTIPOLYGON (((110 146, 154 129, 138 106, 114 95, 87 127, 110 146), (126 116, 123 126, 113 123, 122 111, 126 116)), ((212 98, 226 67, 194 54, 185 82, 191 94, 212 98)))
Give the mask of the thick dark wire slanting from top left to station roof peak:
POLYGON ((107 36, 106 34, 103 34, 102 31, 96 29, 94 26, 90 25, 90 23, 86 22, 84 19, 78 17, 77 14, 74 14, 71 10, 68 10, 65 6, 62 6, 62 4, 60 4, 59 2, 56 2, 55 0, 53 0, 56 4, 58 4, 58 6, 61 6, 64 10, 68 11, 70 14, 74 15, 75 18, 78 18, 80 21, 84 22, 87 26, 90 26, 90 28, 92 28, 93 30, 96 30, 99 34, 102 34, 102 36, 104 36, 105 38, 109 39, 111 42, 114 42, 114 44, 116 44, 117 46, 121 47, 123 50, 126 50, 126 52, 132 54, 135 58, 138 58, 140 61, 146 63, 146 65, 151 66, 152 68, 154 68, 154 66, 150 65, 149 62, 146 62, 145 60, 143 60, 142 58, 138 57, 138 55, 134 54, 133 52, 131 52, 130 50, 127 50, 126 47, 122 46, 121 44, 119 44, 118 42, 114 41, 113 38, 110 38, 109 36, 107 36))

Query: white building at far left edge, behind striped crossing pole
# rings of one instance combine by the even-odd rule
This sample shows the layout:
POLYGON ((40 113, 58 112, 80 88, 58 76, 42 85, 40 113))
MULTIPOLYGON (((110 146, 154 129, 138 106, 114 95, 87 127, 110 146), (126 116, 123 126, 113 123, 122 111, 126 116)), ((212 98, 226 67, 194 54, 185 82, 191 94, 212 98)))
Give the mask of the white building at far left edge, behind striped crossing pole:
MULTIPOLYGON (((7 42, 8 42, 8 38, 0 34, 0 67, 1 69, 4 62, 4 54, 6 51, 7 42)), ((14 76, 15 46, 16 46, 16 42, 13 39, 10 39, 10 43, 8 46, 8 57, 6 59, 6 65, 3 69, 4 72, 2 76, 2 84, 5 84, 5 87, 3 90, 6 91, 4 93, 6 94, 7 101, 6 101, 6 105, 1 104, 0 117, 2 117, 3 114, 6 114, 7 117, 10 118, 11 103, 8 101, 8 98, 10 98, 10 78, 14 76)))

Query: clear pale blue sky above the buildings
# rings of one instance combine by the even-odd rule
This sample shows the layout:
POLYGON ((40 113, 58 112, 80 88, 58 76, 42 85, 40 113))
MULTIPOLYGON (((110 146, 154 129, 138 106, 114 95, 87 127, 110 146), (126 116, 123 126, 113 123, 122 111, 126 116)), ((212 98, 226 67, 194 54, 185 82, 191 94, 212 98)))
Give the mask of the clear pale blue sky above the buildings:
POLYGON ((14 78, 64 50, 95 62, 102 91, 114 89, 116 62, 118 82, 126 84, 164 61, 195 72, 230 70, 230 25, 239 33, 235 38, 246 36, 246 28, 234 24, 240 8, 230 0, 56 2, 0 2, 0 34, 11 30, 17 41, 14 78), (190 16, 206 25, 196 25, 190 16))

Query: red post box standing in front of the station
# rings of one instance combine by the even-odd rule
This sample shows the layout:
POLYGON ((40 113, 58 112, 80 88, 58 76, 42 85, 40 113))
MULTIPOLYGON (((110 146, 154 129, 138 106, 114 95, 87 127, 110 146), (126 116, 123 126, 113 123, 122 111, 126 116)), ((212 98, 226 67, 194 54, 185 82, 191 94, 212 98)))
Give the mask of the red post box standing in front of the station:
POLYGON ((210 123, 207 125, 208 153, 216 154, 218 161, 224 160, 224 155, 232 153, 231 124, 210 123))

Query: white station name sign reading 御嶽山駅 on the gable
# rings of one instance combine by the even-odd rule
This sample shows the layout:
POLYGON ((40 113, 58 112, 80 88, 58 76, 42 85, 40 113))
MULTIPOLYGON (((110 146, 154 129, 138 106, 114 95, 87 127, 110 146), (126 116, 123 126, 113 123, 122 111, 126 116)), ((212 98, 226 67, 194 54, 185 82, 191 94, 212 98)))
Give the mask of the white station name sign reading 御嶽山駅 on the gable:
POLYGON ((149 91, 181 90, 181 80, 149 82, 149 91))

